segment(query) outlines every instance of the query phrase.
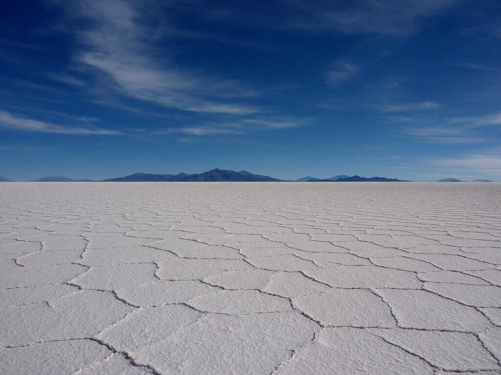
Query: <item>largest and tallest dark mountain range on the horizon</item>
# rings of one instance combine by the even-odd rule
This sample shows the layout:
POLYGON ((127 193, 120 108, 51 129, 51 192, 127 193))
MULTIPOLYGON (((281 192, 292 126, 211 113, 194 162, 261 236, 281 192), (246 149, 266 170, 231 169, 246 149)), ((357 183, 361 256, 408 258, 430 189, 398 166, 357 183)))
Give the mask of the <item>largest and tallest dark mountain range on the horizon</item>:
POLYGON ((246 170, 235 172, 234 170, 221 170, 218 168, 207 170, 203 173, 194 174, 152 174, 134 173, 125 177, 109 178, 104 181, 283 181, 278 178, 254 174, 246 170))

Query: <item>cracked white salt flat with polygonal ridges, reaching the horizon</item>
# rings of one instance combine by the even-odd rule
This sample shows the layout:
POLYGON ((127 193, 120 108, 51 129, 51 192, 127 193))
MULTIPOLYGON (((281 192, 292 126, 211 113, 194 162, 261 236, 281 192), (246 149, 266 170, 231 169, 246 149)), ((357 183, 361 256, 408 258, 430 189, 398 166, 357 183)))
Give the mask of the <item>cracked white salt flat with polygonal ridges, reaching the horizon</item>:
POLYGON ((0 197, 0 373, 500 373, 501 183, 0 197))

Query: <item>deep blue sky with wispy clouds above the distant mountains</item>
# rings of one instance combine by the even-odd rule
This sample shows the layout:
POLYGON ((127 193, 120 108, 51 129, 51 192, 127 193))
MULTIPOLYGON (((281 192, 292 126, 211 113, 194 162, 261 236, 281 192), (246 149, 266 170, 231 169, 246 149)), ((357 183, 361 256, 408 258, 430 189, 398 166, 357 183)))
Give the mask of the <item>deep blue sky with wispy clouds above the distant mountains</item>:
POLYGON ((501 180, 498 0, 1 10, 0 176, 501 180))

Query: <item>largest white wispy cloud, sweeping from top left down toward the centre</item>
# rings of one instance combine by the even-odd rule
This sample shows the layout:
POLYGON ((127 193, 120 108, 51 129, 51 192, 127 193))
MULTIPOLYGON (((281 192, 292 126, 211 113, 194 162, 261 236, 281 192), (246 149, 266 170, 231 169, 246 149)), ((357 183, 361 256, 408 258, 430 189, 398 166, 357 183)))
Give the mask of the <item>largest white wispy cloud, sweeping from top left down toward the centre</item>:
MULTIPOLYGON (((61 2, 68 14, 85 20, 88 27, 74 30, 79 48, 75 51, 75 69, 90 74, 99 91, 164 107, 191 112, 249 114, 260 109, 228 98, 245 98, 256 93, 241 88, 241 83, 182 69, 173 63, 173 52, 160 53, 155 42, 162 30, 154 18, 155 1, 82 0, 61 2)), ((68 84, 81 79, 62 74, 55 76, 68 84)))

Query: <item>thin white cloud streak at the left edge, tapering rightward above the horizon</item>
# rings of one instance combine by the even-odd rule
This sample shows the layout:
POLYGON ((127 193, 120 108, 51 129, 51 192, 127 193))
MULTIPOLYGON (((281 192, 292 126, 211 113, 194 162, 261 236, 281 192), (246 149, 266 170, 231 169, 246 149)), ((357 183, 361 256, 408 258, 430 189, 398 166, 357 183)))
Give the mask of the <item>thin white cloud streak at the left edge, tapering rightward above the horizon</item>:
POLYGON ((32 118, 26 118, 14 115, 8 111, 0 111, 0 127, 25 130, 25 131, 38 131, 45 133, 59 133, 59 134, 74 134, 74 135, 119 135, 120 131, 101 129, 101 128, 87 128, 81 126, 62 126, 50 122, 39 121, 32 118))

